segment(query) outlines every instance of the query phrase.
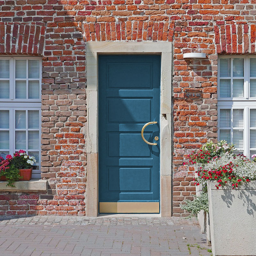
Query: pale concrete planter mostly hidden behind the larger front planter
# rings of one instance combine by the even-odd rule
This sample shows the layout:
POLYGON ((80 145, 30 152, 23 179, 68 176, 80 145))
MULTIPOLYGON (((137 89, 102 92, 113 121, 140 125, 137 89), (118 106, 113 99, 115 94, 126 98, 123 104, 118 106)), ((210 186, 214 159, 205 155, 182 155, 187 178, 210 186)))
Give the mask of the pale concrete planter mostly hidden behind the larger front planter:
MULTIPOLYGON (((198 177, 196 171, 199 167, 203 167, 203 164, 195 164, 195 177, 198 177)), ((199 196, 202 191, 202 185, 196 186, 196 195, 199 196)), ((199 222, 199 226, 201 228, 201 232, 206 235, 207 244, 210 245, 211 243, 211 230, 210 230, 210 220, 209 220, 209 213, 204 212, 201 210, 197 214, 197 219, 199 222)))

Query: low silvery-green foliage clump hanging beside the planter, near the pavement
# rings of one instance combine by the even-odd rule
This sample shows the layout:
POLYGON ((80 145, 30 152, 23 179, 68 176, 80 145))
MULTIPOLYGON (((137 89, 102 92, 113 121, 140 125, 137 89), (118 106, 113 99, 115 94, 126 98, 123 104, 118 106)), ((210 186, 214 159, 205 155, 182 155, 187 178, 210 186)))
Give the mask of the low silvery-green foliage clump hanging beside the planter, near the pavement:
POLYGON ((208 205, 208 194, 204 191, 201 192, 199 196, 193 196, 194 200, 184 200, 185 204, 181 204, 180 207, 183 210, 186 210, 190 213, 190 215, 186 218, 192 218, 194 216, 197 217, 197 213, 201 210, 205 212, 209 212, 209 205, 208 205))

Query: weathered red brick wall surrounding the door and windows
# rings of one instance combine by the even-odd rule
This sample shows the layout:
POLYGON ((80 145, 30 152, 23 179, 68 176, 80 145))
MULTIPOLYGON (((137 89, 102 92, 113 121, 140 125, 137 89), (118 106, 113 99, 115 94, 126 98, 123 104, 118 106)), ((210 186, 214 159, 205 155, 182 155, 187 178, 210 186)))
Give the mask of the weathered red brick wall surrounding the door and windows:
POLYGON ((31 210, 86 214, 85 42, 148 40, 174 46, 173 215, 185 216, 179 204, 191 198, 195 187, 194 168, 183 162, 189 152, 217 138, 217 54, 255 52, 255 4, 255 0, 0 0, 0 53, 43 56, 42 177, 49 181, 49 191, 36 198, 36 207, 28 202, 29 194, 4 193, 0 214, 31 210), (192 51, 204 52, 207 58, 184 60, 183 53, 192 51), (185 99, 188 88, 202 90, 202 99, 185 99), (25 210, 18 207, 12 212, 12 204, 25 205, 25 210))

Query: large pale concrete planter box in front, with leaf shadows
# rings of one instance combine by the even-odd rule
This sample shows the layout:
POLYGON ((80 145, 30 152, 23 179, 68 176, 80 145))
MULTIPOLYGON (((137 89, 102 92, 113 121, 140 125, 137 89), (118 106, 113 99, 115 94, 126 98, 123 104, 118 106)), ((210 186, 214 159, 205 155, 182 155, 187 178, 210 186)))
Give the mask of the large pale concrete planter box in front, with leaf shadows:
POLYGON ((256 255, 256 181, 238 189, 208 181, 209 216, 214 256, 256 255))

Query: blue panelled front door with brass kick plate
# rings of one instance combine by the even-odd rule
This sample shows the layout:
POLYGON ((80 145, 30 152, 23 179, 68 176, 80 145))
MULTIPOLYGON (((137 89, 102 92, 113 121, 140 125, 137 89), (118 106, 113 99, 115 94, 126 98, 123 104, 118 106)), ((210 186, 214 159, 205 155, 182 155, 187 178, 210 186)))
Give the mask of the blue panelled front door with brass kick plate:
POLYGON ((99 55, 100 212, 159 212, 160 59, 99 55))

